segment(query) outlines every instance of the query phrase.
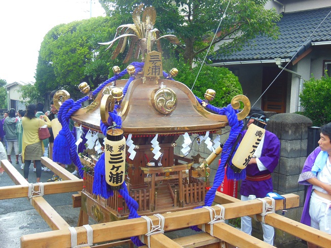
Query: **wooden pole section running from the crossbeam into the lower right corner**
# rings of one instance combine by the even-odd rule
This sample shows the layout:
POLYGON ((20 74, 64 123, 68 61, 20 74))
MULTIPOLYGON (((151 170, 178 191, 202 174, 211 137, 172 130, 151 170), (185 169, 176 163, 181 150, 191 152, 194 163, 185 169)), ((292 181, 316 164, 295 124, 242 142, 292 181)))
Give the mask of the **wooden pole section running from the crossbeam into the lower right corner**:
MULTIPOLYGON (((256 216, 256 218, 259 221, 261 221, 262 219, 260 215, 256 216)), ((297 236, 303 240, 314 243, 319 247, 325 247, 325 248, 331 247, 330 234, 312 228, 310 226, 304 225, 302 223, 293 221, 282 215, 277 215, 277 214, 266 215, 265 223, 277 229, 280 229, 284 232, 297 236)))

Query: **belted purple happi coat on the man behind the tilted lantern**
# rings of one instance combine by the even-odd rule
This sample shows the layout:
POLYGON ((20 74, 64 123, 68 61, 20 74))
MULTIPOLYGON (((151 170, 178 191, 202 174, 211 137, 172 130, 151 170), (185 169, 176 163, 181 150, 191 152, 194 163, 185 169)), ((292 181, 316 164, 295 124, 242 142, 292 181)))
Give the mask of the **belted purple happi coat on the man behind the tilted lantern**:
MULTIPOLYGON (((247 130, 243 132, 243 136, 247 130)), ((272 173, 279 161, 280 156, 280 142, 277 136, 266 130, 265 139, 263 143, 263 148, 261 152, 261 157, 259 160, 268 169, 261 171, 256 163, 248 164, 246 167, 246 175, 248 176, 259 176, 263 174, 272 173)), ((240 194, 248 196, 250 194, 256 195, 257 198, 266 197, 267 193, 273 191, 272 179, 267 179, 263 181, 248 181, 246 179, 242 180, 240 187, 240 194)))

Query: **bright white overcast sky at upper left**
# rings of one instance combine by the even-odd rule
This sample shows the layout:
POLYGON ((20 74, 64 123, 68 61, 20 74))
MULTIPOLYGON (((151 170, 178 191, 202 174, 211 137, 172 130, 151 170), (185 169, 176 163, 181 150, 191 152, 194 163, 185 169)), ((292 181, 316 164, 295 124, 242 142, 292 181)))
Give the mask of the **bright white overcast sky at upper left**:
POLYGON ((0 78, 34 81, 40 45, 54 26, 105 16, 98 0, 0 0, 0 78))

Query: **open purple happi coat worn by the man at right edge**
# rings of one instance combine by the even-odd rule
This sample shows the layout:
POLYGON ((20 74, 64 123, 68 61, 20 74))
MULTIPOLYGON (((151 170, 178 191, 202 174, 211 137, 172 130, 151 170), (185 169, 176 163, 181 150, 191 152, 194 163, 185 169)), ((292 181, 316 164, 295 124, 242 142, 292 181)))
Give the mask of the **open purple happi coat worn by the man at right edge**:
POLYGON ((318 153, 321 151, 320 147, 315 148, 315 150, 309 154, 309 156, 307 157, 305 164, 304 164, 304 168, 302 169, 302 172, 299 176, 299 183, 300 184, 304 184, 304 185, 309 185, 308 189, 307 189, 307 195, 306 195, 306 200, 305 200, 305 204, 304 204, 304 209, 302 211, 302 216, 301 216, 301 223, 310 226, 310 215, 309 215, 309 202, 310 202, 310 197, 311 197, 311 193, 312 193, 312 188, 313 185, 310 184, 309 182, 307 182, 307 179, 310 178, 317 178, 317 176, 315 174, 312 173, 311 169, 314 165, 315 159, 318 155, 318 153))

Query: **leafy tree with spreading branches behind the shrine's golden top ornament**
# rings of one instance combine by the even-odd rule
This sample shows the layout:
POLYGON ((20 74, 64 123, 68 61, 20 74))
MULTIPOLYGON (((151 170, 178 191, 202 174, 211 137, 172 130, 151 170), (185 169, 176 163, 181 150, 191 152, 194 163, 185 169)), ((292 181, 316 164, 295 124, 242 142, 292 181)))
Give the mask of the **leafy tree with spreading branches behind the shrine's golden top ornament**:
MULTIPOLYGON (((225 13, 228 1, 218 0, 99 0, 107 15, 114 18, 118 25, 132 23, 132 12, 140 4, 153 6, 157 12, 155 27, 161 33, 176 35, 182 45, 177 53, 182 54, 186 63, 204 57, 210 45, 226 41, 218 52, 231 53, 240 50, 245 43, 257 35, 276 38, 276 22, 280 15, 275 10, 265 10, 267 0, 232 1, 225 13), (224 15, 218 36, 213 40, 224 15)), ((102 40, 107 42, 108 40, 102 40)))

